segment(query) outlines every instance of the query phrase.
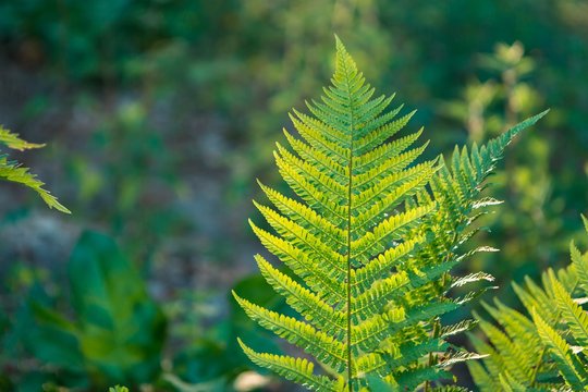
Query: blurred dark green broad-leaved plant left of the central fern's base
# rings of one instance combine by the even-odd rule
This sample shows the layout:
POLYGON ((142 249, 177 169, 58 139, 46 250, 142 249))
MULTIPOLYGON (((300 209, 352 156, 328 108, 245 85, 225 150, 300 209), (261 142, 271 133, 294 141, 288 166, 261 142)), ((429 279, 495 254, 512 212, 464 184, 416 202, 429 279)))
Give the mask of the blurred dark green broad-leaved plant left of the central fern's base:
MULTIPOLYGON (((166 319, 145 281, 108 236, 85 232, 68 264, 75 319, 32 296, 23 342, 69 382, 139 384, 160 371, 166 319)), ((78 385, 78 387, 79 387, 78 385)), ((73 385, 68 385, 73 387, 73 385)))

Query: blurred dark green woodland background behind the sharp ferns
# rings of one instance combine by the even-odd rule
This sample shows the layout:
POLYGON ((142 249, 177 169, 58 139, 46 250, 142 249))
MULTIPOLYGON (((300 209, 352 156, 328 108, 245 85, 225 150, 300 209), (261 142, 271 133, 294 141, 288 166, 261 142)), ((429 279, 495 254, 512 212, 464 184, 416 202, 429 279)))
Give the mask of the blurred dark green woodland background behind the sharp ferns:
POLYGON ((278 183, 287 111, 329 79, 334 33, 419 110, 431 157, 551 108, 493 177, 505 203, 476 242, 502 252, 464 272, 512 303, 511 280, 586 245, 586 1, 4 0, 0 123, 47 143, 12 157, 73 213, 1 186, 0 391, 292 388, 252 372, 236 335, 287 348, 229 292, 283 307, 246 219, 255 179, 278 183))

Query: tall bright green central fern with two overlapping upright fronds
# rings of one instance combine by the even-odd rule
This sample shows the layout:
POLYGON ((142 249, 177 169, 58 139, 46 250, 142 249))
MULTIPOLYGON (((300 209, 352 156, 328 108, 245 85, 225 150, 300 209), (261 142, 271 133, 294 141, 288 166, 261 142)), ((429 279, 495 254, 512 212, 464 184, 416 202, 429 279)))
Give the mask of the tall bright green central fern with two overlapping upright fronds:
POLYGON ((257 353, 257 365, 317 391, 413 390, 450 376, 446 368, 473 354, 448 343, 470 321, 442 327, 439 317, 475 297, 451 298, 455 286, 491 280, 450 270, 470 253, 461 245, 473 231, 481 184, 527 120, 488 146, 415 163, 421 131, 395 137, 414 112, 388 110, 393 97, 372 98, 354 60, 336 39, 335 72, 310 114, 294 110, 303 139, 284 131, 280 173, 298 198, 260 184, 274 208, 256 203, 275 233, 252 223, 282 271, 256 255, 270 285, 304 319, 259 307, 234 293, 246 314, 297 345, 306 358, 257 353), (315 372, 318 364, 321 371, 315 372))

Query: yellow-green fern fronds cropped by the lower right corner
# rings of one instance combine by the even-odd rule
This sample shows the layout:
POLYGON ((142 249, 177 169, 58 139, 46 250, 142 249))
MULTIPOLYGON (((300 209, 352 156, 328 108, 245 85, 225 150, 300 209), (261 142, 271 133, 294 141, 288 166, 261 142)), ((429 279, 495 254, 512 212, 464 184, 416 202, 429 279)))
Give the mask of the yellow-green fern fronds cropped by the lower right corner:
MULTIPOLYGON (((583 217, 584 218, 584 217, 583 217)), ((588 234, 588 220, 584 218, 588 234)), ((471 336, 488 354, 468 364, 483 391, 586 391, 588 388, 588 253, 571 244, 572 264, 542 275, 541 286, 526 278, 513 284, 526 314, 499 299, 485 304, 499 326, 480 316, 489 343, 471 336)))

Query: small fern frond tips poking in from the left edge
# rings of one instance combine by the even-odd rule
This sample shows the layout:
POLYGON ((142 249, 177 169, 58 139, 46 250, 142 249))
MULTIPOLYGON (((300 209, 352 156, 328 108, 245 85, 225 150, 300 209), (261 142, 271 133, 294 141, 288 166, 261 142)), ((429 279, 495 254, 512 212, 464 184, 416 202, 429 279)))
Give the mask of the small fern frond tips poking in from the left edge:
MULTIPOLYGON (((23 140, 19 137, 17 134, 11 133, 10 131, 3 128, 0 125, 0 143, 7 146, 8 148, 23 151, 25 149, 40 148, 45 145, 33 144, 23 140)), ((15 161, 9 161, 7 155, 0 155, 0 177, 23 184, 35 191, 42 200, 50 207, 54 208, 61 212, 70 213, 70 210, 61 205, 57 197, 51 195, 49 191, 45 189, 40 180, 37 176, 28 171, 27 168, 23 168, 20 163, 15 161)))

